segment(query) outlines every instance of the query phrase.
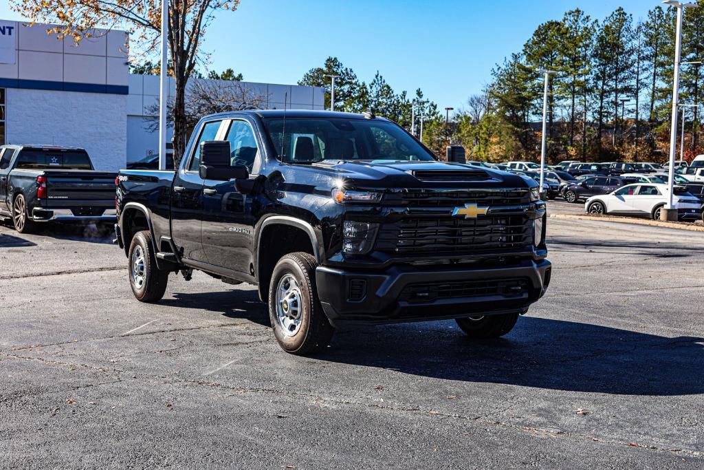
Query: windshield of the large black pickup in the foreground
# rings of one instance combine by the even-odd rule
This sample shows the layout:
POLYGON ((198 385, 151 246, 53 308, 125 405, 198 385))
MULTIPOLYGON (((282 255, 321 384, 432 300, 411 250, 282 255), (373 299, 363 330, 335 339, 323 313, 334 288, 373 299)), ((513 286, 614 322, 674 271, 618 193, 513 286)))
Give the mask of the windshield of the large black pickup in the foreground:
POLYGON ((433 161, 434 156, 398 125, 349 118, 265 118, 279 159, 289 163, 322 160, 433 161))

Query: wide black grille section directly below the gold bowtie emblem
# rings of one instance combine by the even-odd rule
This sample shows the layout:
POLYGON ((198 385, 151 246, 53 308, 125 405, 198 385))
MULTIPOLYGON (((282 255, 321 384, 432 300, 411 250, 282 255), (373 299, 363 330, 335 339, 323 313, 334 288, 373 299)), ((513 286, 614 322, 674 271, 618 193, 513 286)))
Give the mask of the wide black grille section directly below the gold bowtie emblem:
POLYGON ((527 216, 409 217, 384 223, 377 250, 388 254, 453 254, 517 249, 532 243, 527 216))

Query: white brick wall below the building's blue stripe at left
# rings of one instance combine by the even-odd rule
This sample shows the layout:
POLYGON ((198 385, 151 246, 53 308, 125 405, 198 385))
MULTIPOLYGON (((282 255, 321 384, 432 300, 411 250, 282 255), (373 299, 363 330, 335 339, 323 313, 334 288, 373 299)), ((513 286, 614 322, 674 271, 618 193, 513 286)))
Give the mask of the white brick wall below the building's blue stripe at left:
POLYGON ((125 168, 124 94, 6 89, 7 142, 82 147, 99 170, 125 168))

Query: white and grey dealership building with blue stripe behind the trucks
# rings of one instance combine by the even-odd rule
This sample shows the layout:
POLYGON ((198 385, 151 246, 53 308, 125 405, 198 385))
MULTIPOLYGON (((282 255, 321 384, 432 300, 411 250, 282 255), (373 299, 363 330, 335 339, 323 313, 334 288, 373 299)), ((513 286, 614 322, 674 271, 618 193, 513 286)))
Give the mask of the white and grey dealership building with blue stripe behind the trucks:
MULTIPOLYGON (((101 170, 156 153, 159 78, 129 73, 127 34, 97 30, 75 44, 47 27, 0 20, 0 144, 83 147, 101 170)), ((320 87, 238 86, 262 108, 281 109, 288 97, 289 109, 324 109, 320 87)))

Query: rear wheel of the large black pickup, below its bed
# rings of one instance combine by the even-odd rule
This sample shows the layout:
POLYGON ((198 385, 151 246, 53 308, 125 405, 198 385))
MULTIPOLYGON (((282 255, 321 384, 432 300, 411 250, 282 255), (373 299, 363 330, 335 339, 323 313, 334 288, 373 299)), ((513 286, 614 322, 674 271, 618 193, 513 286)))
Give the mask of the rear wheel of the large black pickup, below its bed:
POLYGON ((127 276, 132 293, 139 302, 158 302, 166 292, 169 271, 156 267, 156 258, 151 247, 151 233, 137 232, 130 243, 127 276))

